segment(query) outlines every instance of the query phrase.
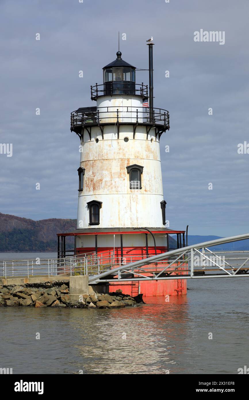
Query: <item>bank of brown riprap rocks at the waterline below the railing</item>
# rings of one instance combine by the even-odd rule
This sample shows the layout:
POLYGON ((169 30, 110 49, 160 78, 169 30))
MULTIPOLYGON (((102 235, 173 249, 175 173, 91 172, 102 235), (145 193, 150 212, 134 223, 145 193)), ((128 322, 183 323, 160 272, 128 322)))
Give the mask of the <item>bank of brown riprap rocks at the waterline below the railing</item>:
POLYGON ((106 294, 82 294, 79 300, 70 299, 68 282, 43 282, 41 284, 0 285, 0 306, 34 306, 35 308, 123 308, 143 303, 142 294, 135 298, 122 290, 106 294))

